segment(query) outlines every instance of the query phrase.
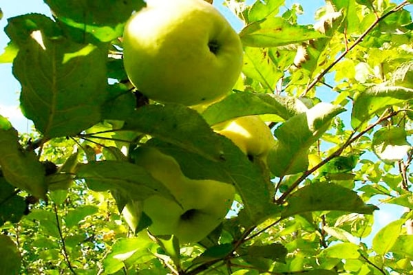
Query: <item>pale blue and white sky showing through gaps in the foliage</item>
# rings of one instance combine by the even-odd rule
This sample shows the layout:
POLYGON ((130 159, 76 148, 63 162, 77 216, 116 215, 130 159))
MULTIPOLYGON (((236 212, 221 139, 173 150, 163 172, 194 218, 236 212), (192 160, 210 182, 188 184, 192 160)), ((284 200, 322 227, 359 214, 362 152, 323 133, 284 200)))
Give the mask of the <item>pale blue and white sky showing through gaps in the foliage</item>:
MULTIPOLYGON (((223 0, 215 0, 215 6, 229 19, 233 27, 239 31, 242 28, 242 23, 236 19, 236 17, 222 6, 223 0)), ((251 1, 249 1, 251 2, 251 1)), ((291 7, 293 3, 299 2, 304 8, 304 14, 299 17, 299 23, 313 24, 314 14, 317 8, 324 5, 324 1, 321 0, 301 0, 292 1, 286 0, 286 7, 291 7)), ((400 2, 400 1, 396 1, 400 2)), ((0 2, 0 8, 3 11, 3 19, 0 20, 0 49, 6 47, 9 39, 3 32, 3 28, 7 25, 7 18, 15 17, 19 14, 26 14, 30 12, 39 12, 50 15, 47 5, 42 0, 14 0, 0 2)), ((2 52, 2 50, 1 50, 2 52)), ((13 126, 20 132, 30 131, 31 122, 23 117, 19 111, 19 89, 20 85, 17 80, 12 76, 12 67, 10 64, 0 64, 0 114, 6 116, 12 122, 13 126)), ((328 93, 326 93, 328 94, 328 93)), ((377 203, 377 201, 374 201, 377 203)), ((383 227, 390 221, 398 219, 401 214, 401 208, 396 206, 386 206, 383 210, 377 211, 374 214, 376 223, 374 228, 376 231, 378 228, 383 227)))

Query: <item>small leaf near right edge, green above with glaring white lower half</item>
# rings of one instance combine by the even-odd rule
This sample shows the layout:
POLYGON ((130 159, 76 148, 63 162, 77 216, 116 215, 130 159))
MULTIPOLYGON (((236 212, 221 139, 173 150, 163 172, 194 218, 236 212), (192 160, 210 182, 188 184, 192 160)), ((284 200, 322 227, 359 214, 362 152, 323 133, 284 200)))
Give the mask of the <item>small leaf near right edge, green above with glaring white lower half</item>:
POLYGON ((372 150, 383 162, 392 164, 403 159, 410 151, 404 128, 382 128, 373 135, 372 150))

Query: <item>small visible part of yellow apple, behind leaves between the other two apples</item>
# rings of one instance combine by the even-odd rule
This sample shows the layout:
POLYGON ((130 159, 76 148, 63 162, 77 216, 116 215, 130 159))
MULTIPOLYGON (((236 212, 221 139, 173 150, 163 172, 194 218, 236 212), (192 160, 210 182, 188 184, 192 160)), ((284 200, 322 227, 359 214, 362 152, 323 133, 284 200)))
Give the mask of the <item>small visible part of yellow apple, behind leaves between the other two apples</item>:
POLYGON ((213 126, 213 129, 228 137, 248 157, 266 159, 275 145, 273 133, 258 115, 247 115, 213 126))

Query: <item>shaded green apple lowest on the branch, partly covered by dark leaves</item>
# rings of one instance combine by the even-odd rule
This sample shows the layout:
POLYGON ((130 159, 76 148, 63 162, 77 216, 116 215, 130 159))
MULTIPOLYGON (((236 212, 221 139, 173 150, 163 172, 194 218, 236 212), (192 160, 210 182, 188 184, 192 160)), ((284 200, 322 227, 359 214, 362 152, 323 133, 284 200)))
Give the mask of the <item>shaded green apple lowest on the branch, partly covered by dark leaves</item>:
POLYGON ((173 157, 155 148, 140 146, 134 152, 134 159, 167 186, 178 201, 158 195, 145 199, 143 212, 152 221, 151 234, 173 234, 181 243, 197 242, 213 231, 231 208, 233 185, 211 179, 189 179, 173 157))

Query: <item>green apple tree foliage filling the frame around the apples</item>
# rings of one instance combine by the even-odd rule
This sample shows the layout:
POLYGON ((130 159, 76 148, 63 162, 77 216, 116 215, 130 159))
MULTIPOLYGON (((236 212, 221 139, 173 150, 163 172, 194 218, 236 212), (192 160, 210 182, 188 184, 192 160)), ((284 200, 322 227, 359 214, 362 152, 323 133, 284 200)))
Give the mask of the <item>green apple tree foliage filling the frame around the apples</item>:
POLYGON ((53 19, 8 19, 0 56, 36 130, 0 118, 0 274, 413 272, 409 1, 326 1, 315 25, 282 0, 227 1, 246 25, 242 78, 202 113, 125 84, 119 37, 143 1, 45 3, 53 19), (242 115, 271 122, 268 168, 211 130, 242 115), (237 188, 241 210, 200 243, 122 221, 128 199, 163 194, 128 158, 149 136, 187 177, 237 188), (377 195, 408 210, 369 245, 377 195))

